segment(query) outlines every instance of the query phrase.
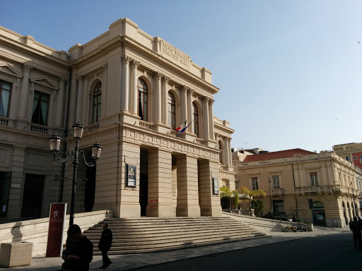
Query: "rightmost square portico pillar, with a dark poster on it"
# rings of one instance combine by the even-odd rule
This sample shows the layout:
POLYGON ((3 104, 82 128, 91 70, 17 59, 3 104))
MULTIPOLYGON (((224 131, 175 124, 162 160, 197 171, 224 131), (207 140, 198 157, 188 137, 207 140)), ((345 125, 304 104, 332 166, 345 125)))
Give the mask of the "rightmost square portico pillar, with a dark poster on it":
POLYGON ((220 197, 218 194, 214 194, 212 177, 217 179, 216 176, 218 176, 218 164, 216 162, 203 161, 199 163, 199 197, 202 216, 221 217, 223 215, 220 197))

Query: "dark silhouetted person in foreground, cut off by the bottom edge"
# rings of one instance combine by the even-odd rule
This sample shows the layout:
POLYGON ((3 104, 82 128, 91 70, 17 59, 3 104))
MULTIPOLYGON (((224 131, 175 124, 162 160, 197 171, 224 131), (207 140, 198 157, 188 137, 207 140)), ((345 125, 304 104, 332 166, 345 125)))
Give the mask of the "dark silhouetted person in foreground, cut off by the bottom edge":
POLYGON ((77 224, 69 227, 68 239, 73 241, 72 247, 62 258, 70 271, 88 271, 89 263, 93 260, 93 243, 82 234, 77 224))

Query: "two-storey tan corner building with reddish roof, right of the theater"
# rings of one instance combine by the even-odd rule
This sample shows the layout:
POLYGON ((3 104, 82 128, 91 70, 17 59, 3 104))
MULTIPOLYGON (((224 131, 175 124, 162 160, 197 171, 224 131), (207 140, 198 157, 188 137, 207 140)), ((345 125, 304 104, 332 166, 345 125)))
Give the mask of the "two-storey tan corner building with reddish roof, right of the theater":
POLYGON ((250 155, 233 152, 237 186, 252 189, 252 181, 267 195, 264 212, 286 212, 301 222, 348 227, 361 216, 356 180, 362 172, 334 152, 319 154, 294 149, 250 155))

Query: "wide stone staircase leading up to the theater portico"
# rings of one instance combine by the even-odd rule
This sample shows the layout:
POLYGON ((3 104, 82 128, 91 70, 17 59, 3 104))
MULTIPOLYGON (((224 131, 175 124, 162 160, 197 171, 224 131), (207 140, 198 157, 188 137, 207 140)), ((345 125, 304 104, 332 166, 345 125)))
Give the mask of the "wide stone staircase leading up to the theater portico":
MULTIPOLYGON (((104 222, 113 234, 108 255, 168 251, 268 237, 230 217, 112 218, 104 222)), ((102 230, 100 222, 84 232, 93 242, 94 255, 101 255, 98 242, 102 230)))

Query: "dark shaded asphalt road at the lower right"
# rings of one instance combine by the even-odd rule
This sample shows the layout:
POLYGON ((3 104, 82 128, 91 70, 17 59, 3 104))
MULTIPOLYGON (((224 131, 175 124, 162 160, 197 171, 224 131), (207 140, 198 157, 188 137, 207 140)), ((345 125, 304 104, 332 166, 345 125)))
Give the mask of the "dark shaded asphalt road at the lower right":
POLYGON ((354 249, 351 232, 272 243, 137 268, 142 271, 362 270, 362 250, 354 249))

